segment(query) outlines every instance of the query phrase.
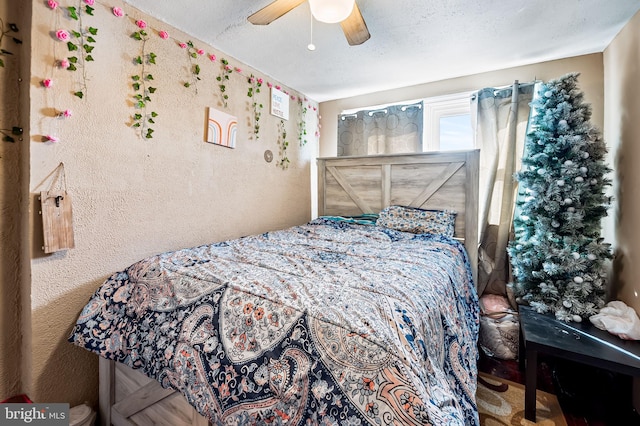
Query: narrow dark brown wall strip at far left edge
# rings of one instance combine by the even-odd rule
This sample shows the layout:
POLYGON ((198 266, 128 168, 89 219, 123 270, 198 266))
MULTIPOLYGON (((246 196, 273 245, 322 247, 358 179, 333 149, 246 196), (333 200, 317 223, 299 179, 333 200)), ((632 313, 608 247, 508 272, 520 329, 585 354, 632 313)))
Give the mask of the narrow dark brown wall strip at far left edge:
POLYGON ((28 130, 29 81, 29 11, 30 5, 18 0, 0 2, 3 37, 2 49, 12 53, 0 58, 0 128, 15 142, 0 142, 0 400, 21 392, 20 359, 23 310, 28 296, 23 285, 28 260, 24 252, 24 226, 27 210, 28 146, 22 137, 13 135, 14 126, 28 130), (10 30, 17 25, 17 32, 10 30), (21 40, 16 44, 12 38, 21 40))

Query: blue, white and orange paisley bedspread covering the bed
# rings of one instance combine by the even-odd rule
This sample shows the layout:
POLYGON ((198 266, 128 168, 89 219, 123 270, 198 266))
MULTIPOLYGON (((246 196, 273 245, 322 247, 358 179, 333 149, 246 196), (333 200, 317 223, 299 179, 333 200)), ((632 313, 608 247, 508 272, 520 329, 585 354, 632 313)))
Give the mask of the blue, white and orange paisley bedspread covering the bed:
POLYGON ((463 246, 316 219, 113 274, 69 338, 216 424, 477 425, 463 246))

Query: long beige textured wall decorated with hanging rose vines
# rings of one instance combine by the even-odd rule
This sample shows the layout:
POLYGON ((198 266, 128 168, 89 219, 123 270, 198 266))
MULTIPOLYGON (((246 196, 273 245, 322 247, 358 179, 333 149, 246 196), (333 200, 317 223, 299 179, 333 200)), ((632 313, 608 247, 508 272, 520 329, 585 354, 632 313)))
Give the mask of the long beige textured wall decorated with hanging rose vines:
MULTIPOLYGON (((301 148, 299 107, 291 102, 291 119, 286 123, 291 165, 288 170, 279 169, 280 120, 269 115, 266 85, 259 95, 265 108, 256 140, 245 77, 232 73, 226 90, 228 108, 222 105, 216 81, 221 52, 192 40, 218 59, 211 62, 203 55, 190 62, 187 51, 177 45, 191 40, 187 35, 119 0, 108 6, 123 8, 127 16, 117 18, 96 2, 94 16, 83 17, 83 25, 97 28, 98 33, 92 52, 95 61, 85 67, 87 87, 81 100, 72 92, 83 83, 82 70, 71 72, 55 65, 68 52, 54 32, 73 28, 75 21, 48 9, 46 2, 33 3, 32 367, 25 388, 38 401, 95 402, 97 357, 71 346, 66 338, 91 293, 112 272, 152 254, 284 228, 306 222, 311 215, 310 163, 317 150, 313 110, 307 114, 311 137, 301 148), (131 76, 139 71, 134 58, 142 46, 130 37, 138 30, 136 19, 149 24, 145 49, 157 55, 157 64, 146 66, 145 71, 153 75, 152 85, 157 88, 150 106, 158 116, 149 140, 129 127, 136 112, 131 76), (161 39, 158 30, 168 31, 175 39, 161 39), (195 63, 201 67, 201 80, 185 88, 195 63), (52 79, 53 87, 42 87, 43 79, 52 79), (207 107, 237 116, 236 149, 203 141, 207 107), (66 109, 72 117, 56 117, 66 109), (43 142, 48 134, 59 142, 43 142), (274 162, 263 159, 266 149, 273 151, 274 162), (60 162, 73 197, 75 248, 44 255, 37 194, 52 184, 51 173, 60 162)), ((227 59, 243 68, 244 75, 253 72, 269 80, 227 59)))

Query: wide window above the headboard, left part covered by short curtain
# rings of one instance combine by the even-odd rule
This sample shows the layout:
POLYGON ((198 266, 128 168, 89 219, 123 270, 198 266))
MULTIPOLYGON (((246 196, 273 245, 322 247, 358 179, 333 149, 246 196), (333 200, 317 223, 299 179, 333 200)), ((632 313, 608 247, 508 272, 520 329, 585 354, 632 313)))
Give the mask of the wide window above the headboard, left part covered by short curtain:
POLYGON ((472 92, 343 111, 338 155, 472 149, 472 92))

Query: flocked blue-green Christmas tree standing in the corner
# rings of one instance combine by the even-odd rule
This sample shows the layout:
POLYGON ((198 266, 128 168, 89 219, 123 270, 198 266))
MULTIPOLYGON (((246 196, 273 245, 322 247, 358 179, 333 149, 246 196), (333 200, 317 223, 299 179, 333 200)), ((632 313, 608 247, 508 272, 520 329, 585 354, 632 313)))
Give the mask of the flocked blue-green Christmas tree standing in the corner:
POLYGON ((609 244, 601 219, 611 203, 600 132, 577 87, 579 74, 541 86, 525 141, 515 239, 514 294, 540 313, 579 322, 604 305, 609 244))

